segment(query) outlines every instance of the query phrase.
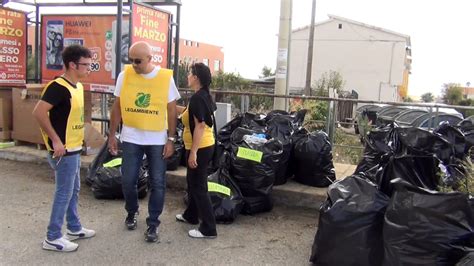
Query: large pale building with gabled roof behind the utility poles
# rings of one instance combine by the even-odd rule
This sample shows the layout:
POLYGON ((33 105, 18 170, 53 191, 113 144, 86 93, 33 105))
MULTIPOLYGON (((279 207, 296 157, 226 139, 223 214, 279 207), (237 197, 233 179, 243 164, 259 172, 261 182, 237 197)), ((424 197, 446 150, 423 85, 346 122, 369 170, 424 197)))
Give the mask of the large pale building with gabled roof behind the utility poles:
MULTIPOLYGON (((304 91, 309 26, 292 31, 289 89, 304 91)), ((401 101, 407 96, 411 67, 408 35, 329 15, 315 24, 311 84, 325 72, 337 71, 344 90, 359 99, 401 101)))

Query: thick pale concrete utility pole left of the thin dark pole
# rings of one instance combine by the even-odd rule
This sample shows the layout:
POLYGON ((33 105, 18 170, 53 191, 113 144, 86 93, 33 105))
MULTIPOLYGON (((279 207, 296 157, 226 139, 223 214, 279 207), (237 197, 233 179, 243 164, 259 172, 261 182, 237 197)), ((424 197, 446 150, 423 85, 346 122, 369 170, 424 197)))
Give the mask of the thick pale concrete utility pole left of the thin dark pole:
MULTIPOLYGON (((280 1, 280 30, 278 34, 275 94, 288 94, 288 58, 291 36, 291 9, 293 0, 280 1)), ((274 110, 288 110, 288 99, 274 98, 274 110)))

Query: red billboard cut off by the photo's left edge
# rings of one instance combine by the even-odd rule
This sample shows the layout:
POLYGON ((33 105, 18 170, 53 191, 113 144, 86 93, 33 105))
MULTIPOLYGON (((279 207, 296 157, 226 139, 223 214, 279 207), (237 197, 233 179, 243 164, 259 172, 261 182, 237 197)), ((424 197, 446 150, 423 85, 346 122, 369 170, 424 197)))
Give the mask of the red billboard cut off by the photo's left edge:
POLYGON ((0 86, 26 83, 26 14, 0 7, 0 86))

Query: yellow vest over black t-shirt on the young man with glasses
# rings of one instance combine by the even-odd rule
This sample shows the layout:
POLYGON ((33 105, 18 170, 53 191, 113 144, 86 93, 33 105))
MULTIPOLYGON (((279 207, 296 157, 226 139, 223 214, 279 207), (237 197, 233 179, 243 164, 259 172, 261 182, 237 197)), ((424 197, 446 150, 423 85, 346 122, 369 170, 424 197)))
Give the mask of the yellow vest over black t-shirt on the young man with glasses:
MULTIPOLYGON (((53 82, 57 82, 59 85, 69 90, 71 94, 71 111, 67 118, 66 125, 66 143, 64 143, 66 150, 76 149, 82 146, 84 141, 84 88, 81 83, 76 84, 74 88, 71 84, 65 81, 63 78, 57 78, 46 85, 41 93, 41 96, 45 93, 46 89, 53 82)), ((44 144, 49 151, 53 151, 53 147, 49 146, 48 135, 41 129, 41 135, 43 136, 44 144)))

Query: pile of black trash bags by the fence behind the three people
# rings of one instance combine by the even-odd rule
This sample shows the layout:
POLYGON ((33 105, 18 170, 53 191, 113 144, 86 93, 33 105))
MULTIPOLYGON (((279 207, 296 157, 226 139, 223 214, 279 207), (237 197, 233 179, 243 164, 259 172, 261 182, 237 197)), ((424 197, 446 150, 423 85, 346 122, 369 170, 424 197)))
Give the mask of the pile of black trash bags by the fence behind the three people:
MULTIPOLYGON (((272 210, 273 186, 285 184, 291 177, 315 187, 327 187, 335 180, 329 138, 322 131, 306 131, 302 127, 305 115, 306 110, 244 113, 219 130, 216 153, 208 169, 208 187, 218 222, 231 223, 238 214, 272 210)), ((186 166, 182 131, 179 122, 168 170, 186 166)), ((112 156, 104 145, 87 180, 96 198, 123 198, 121 156, 112 156)), ((144 159, 139 178, 141 197, 146 196, 147 184, 144 159)))

